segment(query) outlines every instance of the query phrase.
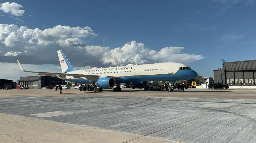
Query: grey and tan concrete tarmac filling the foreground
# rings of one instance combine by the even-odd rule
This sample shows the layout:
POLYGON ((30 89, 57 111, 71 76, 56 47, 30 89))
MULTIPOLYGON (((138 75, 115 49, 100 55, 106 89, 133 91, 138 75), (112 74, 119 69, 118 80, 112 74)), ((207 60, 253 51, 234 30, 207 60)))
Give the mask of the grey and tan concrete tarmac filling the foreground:
POLYGON ((255 89, 0 90, 1 142, 256 142, 255 89))

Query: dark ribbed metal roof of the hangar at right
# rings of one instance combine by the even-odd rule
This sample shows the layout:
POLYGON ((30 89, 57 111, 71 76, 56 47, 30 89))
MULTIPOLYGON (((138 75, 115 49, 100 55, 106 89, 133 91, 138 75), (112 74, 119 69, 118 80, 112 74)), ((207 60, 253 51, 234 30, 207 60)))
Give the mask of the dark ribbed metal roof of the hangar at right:
POLYGON ((224 62, 226 71, 256 70, 256 60, 224 62))

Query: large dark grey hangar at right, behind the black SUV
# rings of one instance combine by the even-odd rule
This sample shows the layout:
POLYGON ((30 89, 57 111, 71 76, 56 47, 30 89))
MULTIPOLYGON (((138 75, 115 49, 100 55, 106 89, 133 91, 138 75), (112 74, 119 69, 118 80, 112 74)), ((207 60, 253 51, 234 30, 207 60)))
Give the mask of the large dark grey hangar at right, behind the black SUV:
POLYGON ((223 62, 223 67, 213 70, 214 83, 223 80, 223 84, 237 84, 237 81, 250 85, 251 80, 256 81, 256 60, 223 62))

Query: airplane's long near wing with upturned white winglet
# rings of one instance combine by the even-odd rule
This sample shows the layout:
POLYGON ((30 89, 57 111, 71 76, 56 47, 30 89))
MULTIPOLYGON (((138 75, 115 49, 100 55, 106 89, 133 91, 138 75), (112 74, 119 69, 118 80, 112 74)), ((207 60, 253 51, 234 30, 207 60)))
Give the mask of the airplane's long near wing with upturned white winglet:
MULTIPOLYGON (((49 73, 49 72, 39 72, 39 71, 26 71, 20 64, 19 60, 17 60, 17 62, 20 66, 20 70, 22 70, 24 72, 37 73, 38 75, 46 75, 46 76, 50 76, 50 77, 59 77, 61 79, 69 79, 70 77, 77 79, 77 78, 83 77, 83 78, 86 78, 91 81, 97 81, 97 79, 99 79, 99 77, 106 77, 104 75, 80 75, 80 74, 72 74, 72 73, 49 73)), ((121 78, 121 77, 114 77, 114 76, 108 76, 108 77, 112 77, 114 79, 121 78)))

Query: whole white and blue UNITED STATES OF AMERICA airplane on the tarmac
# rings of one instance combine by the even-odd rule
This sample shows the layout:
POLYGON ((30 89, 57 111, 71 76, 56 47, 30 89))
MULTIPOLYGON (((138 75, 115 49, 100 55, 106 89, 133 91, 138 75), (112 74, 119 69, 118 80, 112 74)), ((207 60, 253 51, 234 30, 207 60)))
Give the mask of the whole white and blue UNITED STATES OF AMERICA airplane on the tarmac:
POLYGON ((75 70, 70 64, 62 50, 57 51, 62 73, 50 73, 40 71, 26 71, 17 60, 20 70, 24 72, 37 73, 58 77, 60 79, 82 84, 92 84, 94 92, 101 92, 102 89, 121 91, 121 83, 145 84, 148 81, 175 81, 187 80, 197 77, 197 73, 185 64, 176 62, 164 62, 155 64, 141 64, 126 66, 92 68, 88 70, 75 70), (117 87, 114 88, 115 84, 117 87))

